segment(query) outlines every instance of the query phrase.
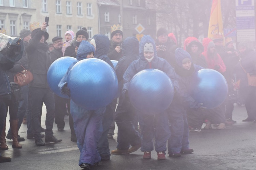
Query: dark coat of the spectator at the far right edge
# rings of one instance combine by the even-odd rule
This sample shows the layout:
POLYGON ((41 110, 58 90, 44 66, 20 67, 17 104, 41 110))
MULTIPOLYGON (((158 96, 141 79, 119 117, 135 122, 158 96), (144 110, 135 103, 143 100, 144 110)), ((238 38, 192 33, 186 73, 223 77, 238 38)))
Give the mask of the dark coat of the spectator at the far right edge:
POLYGON ((240 87, 246 87, 248 86, 247 74, 244 72, 242 67, 247 73, 256 74, 256 51, 246 49, 240 54, 240 56, 240 62, 235 66, 236 79, 237 81, 240 80, 240 87))

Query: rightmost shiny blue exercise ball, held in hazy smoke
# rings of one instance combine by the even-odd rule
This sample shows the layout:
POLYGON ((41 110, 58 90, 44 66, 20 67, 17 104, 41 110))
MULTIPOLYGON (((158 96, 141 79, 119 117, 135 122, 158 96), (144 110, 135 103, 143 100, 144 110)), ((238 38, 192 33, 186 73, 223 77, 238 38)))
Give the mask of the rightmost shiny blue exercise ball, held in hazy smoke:
POLYGON ((213 69, 202 69, 192 75, 189 94, 207 109, 221 105, 228 94, 228 84, 224 76, 213 69))

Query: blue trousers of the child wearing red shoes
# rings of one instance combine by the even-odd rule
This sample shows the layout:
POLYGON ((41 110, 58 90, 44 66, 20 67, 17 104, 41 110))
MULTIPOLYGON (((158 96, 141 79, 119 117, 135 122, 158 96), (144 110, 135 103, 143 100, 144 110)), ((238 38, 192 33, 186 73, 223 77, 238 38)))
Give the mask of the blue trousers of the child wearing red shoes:
POLYGON ((153 138, 155 137, 155 151, 165 153, 166 142, 170 137, 168 116, 166 112, 157 115, 140 114, 142 142, 141 151, 153 151, 153 138))

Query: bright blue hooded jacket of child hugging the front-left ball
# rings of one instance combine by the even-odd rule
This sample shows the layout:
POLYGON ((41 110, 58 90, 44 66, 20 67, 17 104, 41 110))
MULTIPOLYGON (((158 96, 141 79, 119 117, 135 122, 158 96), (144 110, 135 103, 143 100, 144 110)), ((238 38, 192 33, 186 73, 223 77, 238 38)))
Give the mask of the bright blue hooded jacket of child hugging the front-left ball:
POLYGON ((67 83, 67 78, 68 78, 68 73, 71 70, 71 68, 79 61, 86 59, 87 55, 90 52, 94 52, 95 53, 95 48, 93 45, 91 45, 88 41, 82 41, 78 50, 77 50, 77 56, 76 56, 76 61, 74 63, 72 63, 69 68, 67 73, 63 76, 63 78, 60 80, 58 87, 60 92, 63 95, 67 95, 65 94, 65 92, 62 91, 63 87, 65 86, 65 84, 67 83))

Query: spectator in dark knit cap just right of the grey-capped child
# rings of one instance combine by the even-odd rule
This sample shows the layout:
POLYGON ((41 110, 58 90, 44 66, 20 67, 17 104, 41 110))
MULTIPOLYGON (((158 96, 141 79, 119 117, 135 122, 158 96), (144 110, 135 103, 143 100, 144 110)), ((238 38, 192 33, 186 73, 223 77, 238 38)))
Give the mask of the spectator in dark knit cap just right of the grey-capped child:
POLYGON ((164 28, 157 30, 156 51, 157 56, 164 58, 172 67, 175 64, 176 43, 168 37, 168 31, 164 28))

